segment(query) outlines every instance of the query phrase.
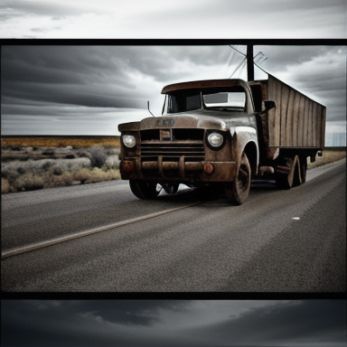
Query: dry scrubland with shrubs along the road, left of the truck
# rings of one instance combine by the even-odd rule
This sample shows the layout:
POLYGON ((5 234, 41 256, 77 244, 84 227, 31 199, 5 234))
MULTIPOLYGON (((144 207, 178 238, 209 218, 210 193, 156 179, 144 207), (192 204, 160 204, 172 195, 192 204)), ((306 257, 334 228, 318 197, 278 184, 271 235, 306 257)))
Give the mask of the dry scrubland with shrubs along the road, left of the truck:
POLYGON ((117 180, 119 148, 2 147, 2 193, 117 180))

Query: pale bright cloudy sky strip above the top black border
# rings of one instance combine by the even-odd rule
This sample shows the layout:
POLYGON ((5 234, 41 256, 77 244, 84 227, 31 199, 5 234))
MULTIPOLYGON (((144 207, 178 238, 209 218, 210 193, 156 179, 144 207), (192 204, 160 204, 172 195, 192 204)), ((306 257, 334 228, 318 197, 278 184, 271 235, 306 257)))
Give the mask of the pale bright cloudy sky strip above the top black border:
POLYGON ((344 0, 2 0, 6 38, 346 38, 344 0))

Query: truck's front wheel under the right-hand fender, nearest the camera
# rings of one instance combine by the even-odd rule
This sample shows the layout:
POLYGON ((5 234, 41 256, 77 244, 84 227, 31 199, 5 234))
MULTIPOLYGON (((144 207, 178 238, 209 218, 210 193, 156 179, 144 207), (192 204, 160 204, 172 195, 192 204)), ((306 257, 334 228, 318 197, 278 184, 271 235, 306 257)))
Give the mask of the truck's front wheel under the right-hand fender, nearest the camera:
POLYGON ((225 194, 227 201, 241 205, 249 197, 251 169, 249 158, 243 154, 239 165, 239 172, 235 182, 230 182, 225 185, 225 194))

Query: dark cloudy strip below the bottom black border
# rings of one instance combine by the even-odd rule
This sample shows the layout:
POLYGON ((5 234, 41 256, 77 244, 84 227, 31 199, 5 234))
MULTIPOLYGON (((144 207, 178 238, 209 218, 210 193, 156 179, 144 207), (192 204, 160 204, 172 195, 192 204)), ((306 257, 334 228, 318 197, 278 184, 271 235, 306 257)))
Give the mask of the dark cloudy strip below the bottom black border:
POLYGON ((7 300, 2 346, 345 347, 345 305, 344 300, 7 300))

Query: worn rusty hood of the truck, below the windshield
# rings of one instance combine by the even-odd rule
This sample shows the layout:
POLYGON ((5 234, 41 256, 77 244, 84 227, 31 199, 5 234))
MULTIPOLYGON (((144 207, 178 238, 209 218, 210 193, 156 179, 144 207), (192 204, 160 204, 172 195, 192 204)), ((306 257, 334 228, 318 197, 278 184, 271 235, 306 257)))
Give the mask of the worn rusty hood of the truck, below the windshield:
POLYGON ((174 113, 163 117, 148 117, 140 122, 141 130, 168 127, 227 130, 230 127, 256 127, 256 125, 254 117, 249 117, 247 113, 205 109, 174 113))

